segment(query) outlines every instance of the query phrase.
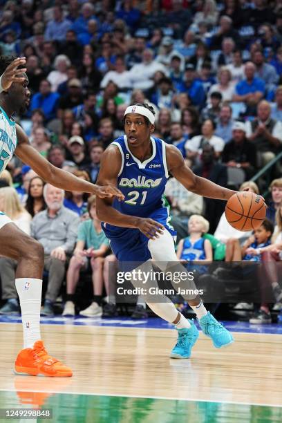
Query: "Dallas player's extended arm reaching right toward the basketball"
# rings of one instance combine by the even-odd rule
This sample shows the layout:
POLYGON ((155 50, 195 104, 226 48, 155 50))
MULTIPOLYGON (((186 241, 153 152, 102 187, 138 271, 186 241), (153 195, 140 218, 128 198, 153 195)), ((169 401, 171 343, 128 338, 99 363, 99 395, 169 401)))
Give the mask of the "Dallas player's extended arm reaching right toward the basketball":
POLYGON ((236 191, 220 187, 214 182, 196 176, 185 164, 182 154, 173 145, 167 145, 167 167, 169 172, 181 182, 181 184, 189 189, 189 191, 208 198, 216 198, 217 200, 229 200, 236 191))

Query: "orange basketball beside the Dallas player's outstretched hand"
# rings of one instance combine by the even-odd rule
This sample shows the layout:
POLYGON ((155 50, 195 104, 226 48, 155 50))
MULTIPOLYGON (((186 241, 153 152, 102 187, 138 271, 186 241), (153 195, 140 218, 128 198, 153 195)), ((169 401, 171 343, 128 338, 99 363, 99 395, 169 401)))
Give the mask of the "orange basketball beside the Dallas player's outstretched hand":
POLYGON ((234 194, 227 201, 225 216, 227 222, 238 231, 252 231, 265 220, 266 207, 263 198, 250 191, 234 194))

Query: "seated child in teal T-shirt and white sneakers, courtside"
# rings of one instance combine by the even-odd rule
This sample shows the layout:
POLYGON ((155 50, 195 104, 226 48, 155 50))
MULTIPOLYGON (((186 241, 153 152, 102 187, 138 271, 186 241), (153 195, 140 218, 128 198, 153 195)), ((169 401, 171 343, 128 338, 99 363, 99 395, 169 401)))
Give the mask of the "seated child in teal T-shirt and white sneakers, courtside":
POLYGON ((101 317, 104 285, 106 293, 109 295, 109 262, 115 261, 115 256, 113 254, 106 256, 109 250, 109 241, 102 231, 101 222, 96 215, 95 196, 88 198, 87 208, 91 219, 80 223, 78 227, 77 244, 66 274, 67 295, 63 316, 75 315, 75 288, 79 281, 79 272, 82 269, 87 269, 89 261, 92 269, 93 301, 79 314, 85 317, 101 317))

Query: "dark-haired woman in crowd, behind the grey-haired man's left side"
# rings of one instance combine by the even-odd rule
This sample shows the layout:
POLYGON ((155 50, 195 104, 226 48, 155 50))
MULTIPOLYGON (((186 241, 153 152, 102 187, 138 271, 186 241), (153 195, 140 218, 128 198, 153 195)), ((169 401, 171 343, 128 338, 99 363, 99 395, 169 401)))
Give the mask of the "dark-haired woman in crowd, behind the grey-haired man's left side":
POLYGON ((28 198, 26 200, 26 210, 32 216, 42 212, 46 209, 46 203, 43 196, 45 182, 39 176, 35 176, 30 179, 30 185, 28 187, 28 198))

